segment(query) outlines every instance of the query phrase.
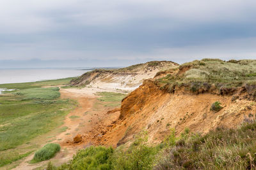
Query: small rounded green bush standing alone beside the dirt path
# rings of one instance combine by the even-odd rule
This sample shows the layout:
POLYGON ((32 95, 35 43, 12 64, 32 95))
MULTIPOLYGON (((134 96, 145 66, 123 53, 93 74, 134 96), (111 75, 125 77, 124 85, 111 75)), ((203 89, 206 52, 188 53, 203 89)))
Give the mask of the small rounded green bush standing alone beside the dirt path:
POLYGON ((54 155, 60 151, 60 145, 57 143, 47 143, 43 148, 38 150, 31 163, 48 160, 54 157, 54 155))

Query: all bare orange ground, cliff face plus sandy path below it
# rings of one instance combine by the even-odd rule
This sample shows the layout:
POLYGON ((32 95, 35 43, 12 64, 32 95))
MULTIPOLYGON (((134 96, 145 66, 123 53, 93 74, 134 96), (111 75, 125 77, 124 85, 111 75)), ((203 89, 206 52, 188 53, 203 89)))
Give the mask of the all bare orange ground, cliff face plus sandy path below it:
MULTIPOLYGON (((255 102, 245 99, 243 94, 233 94, 239 96, 233 101, 231 95, 191 94, 182 89, 171 94, 160 90, 151 80, 125 97, 121 110, 99 103, 92 93, 97 90, 60 90, 62 98, 76 99, 78 106, 64 120, 62 127, 67 127, 67 131, 58 134, 54 141, 61 145, 61 152, 51 159, 55 165, 67 162, 77 150, 90 145, 129 145, 143 129, 148 131, 149 142, 157 144, 170 133, 170 128, 175 128, 178 136, 186 127, 204 134, 220 126, 237 127, 244 117, 256 113, 255 102), (210 110, 216 101, 223 106, 218 112, 210 110)), ((29 157, 26 161, 33 155, 29 157)), ((26 161, 17 169, 30 169, 26 161)))

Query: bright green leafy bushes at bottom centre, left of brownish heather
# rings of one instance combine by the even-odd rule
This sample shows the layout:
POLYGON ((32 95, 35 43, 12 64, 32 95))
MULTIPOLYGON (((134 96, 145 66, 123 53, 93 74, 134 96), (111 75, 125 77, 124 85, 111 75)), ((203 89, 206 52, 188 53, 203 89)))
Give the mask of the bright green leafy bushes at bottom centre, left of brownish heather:
POLYGON ((134 143, 125 149, 122 146, 113 150, 104 146, 91 146, 84 150, 79 150, 68 164, 50 169, 151 169, 156 153, 162 146, 148 146, 147 132, 140 133, 134 143))

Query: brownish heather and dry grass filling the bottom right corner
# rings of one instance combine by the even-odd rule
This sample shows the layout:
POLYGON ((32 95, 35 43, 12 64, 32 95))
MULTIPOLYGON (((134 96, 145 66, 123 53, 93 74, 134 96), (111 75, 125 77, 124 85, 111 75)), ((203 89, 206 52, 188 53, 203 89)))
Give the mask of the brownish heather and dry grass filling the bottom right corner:
POLYGON ((239 129, 189 134, 164 148, 153 169, 252 169, 256 165, 256 122, 239 129))

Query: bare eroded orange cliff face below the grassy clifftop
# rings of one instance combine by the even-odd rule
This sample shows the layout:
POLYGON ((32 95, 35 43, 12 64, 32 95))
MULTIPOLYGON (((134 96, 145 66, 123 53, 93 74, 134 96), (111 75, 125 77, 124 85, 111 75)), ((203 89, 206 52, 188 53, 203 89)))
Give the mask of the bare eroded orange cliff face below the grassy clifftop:
POLYGON ((117 143, 121 145, 132 141, 143 129, 148 131, 151 143, 160 143, 170 128, 179 135, 186 127, 203 134, 216 127, 237 127, 256 113, 256 103, 244 96, 246 93, 239 94, 239 91, 234 95, 193 94, 184 90, 169 93, 147 80, 122 101, 119 120, 111 131, 124 132, 125 129, 117 143), (211 111, 216 101, 223 108, 211 111))

